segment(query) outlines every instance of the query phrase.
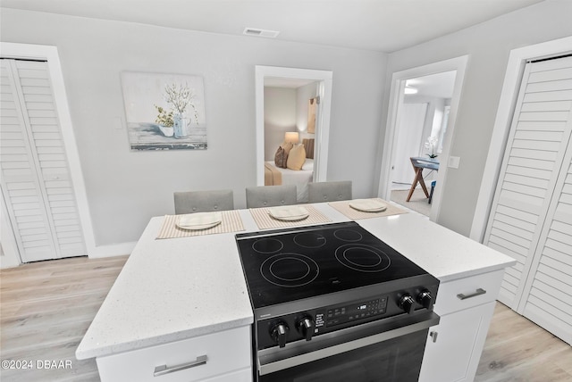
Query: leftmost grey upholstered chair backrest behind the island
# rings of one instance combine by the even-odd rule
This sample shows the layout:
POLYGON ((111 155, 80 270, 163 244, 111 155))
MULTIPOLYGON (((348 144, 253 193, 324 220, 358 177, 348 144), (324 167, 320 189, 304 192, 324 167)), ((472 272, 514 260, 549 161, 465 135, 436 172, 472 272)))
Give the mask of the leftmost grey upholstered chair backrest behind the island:
POLYGON ((173 194, 175 214, 234 209, 232 190, 184 191, 173 194))

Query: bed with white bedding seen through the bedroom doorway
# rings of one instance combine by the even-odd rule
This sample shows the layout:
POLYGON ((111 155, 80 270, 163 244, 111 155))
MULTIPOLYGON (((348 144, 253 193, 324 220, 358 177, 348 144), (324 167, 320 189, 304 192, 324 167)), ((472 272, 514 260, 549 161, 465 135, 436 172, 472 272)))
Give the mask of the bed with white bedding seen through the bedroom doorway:
POLYGON ((277 167, 273 161, 265 162, 265 186, 295 185, 299 202, 307 202, 307 184, 314 177, 314 139, 304 139, 307 158, 302 170, 277 167))

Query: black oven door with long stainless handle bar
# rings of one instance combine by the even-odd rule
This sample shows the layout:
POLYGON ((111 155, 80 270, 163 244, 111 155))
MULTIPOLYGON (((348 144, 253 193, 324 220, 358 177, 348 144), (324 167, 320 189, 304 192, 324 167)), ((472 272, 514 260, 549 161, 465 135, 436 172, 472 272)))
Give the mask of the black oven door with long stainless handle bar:
POLYGON ((373 322, 370 324, 374 325, 343 329, 335 336, 295 343, 290 349, 288 345, 266 349, 258 353, 258 381, 417 381, 427 332, 439 323, 435 313, 427 312, 425 316, 428 320, 409 319, 389 325, 373 322))

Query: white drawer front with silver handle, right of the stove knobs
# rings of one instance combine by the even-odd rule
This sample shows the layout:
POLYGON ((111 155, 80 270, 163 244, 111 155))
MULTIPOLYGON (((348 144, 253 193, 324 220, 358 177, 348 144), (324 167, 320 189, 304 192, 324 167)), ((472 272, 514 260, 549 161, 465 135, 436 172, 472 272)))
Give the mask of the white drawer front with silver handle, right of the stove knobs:
POLYGON ((437 314, 449 314, 497 299, 504 270, 460 278, 442 283, 433 309, 437 314))

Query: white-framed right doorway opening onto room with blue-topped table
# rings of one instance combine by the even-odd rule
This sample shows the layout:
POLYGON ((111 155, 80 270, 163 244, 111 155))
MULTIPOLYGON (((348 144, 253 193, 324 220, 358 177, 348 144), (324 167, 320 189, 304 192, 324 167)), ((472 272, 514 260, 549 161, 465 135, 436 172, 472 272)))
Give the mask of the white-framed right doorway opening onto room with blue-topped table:
MULTIPOLYGON (((449 150, 450 150, 450 142, 452 140, 452 136, 454 134, 455 128, 455 118, 457 115, 458 109, 458 100, 461 94, 461 88, 463 84, 463 79, 465 75, 465 68, 467 66, 467 56, 461 56, 457 58, 453 58, 450 60, 446 60, 443 62, 435 62, 432 64, 428 64, 425 66, 409 69, 407 71, 399 71, 393 73, 391 79, 391 94, 390 94, 390 104, 388 109, 388 120, 387 126, 385 130, 385 140, 383 145, 383 160, 382 160, 382 170, 380 174, 380 183, 378 189, 378 195, 385 200, 391 199, 391 191, 393 187, 393 179, 395 177, 395 169, 396 169, 396 161, 398 160, 399 154, 399 139, 400 139, 400 121, 404 119, 405 115, 405 107, 404 104, 407 102, 409 103, 422 103, 421 95, 419 93, 420 88, 423 86, 424 81, 426 83, 430 83, 434 81, 433 87, 437 88, 437 84, 442 84, 443 93, 442 95, 449 95, 450 98, 445 98, 444 96, 440 96, 439 98, 450 99, 445 104, 445 101, 442 101, 442 114, 435 115, 436 113, 433 111, 431 114, 431 118, 427 117, 425 114, 424 119, 424 126, 419 129, 421 133, 421 137, 417 137, 419 141, 418 151, 406 153, 406 154, 399 154, 400 160, 405 161, 405 165, 402 165, 401 168, 409 169, 410 171, 410 178, 411 181, 415 177, 415 172, 413 167, 411 166, 411 162, 409 158, 411 156, 421 156, 423 155, 426 158, 429 158, 427 154, 433 153, 433 151, 439 151, 438 155, 438 162, 440 162, 439 171, 436 171, 435 174, 433 172, 432 178, 429 185, 435 181, 435 185, 443 185, 445 183, 445 179, 447 176, 447 168, 449 164, 449 150), (454 79, 453 79, 454 77, 454 79), (452 82, 452 91, 450 82, 452 82), (449 85, 445 85, 449 84, 449 85), (408 99, 406 99, 406 87, 408 87, 408 92, 411 91, 411 88, 417 90, 416 97, 411 98, 408 94, 408 99), (448 88, 448 90, 446 90, 448 88), (417 95, 418 94, 418 95, 417 95), (443 117, 445 116, 446 109, 444 106, 449 106, 447 108, 447 119, 445 120, 443 117), (443 125, 443 120, 445 123, 443 125), (433 137, 436 138, 439 142, 434 142, 433 139, 429 141, 429 138, 433 137)), ((423 103, 426 103, 426 100, 423 103)), ((429 110, 430 106, 427 106, 427 110, 429 110)), ((398 168, 399 169, 399 168, 398 168)), ((423 176, 425 174, 429 175, 429 170, 423 172, 423 176)), ((427 179, 428 180, 428 179, 427 179)), ((409 185, 410 187, 410 185, 409 185)), ((420 191, 423 194, 423 191, 420 191)), ((407 199, 407 198, 406 198, 407 199)), ((424 195, 424 203, 427 203, 428 200, 425 198, 424 195)), ((429 216, 429 219, 432 221, 438 221, 439 219, 439 210, 440 210, 440 203, 442 202, 442 187, 434 187, 433 195, 432 195, 432 203, 430 208, 425 213, 429 216)), ((408 206, 407 202, 403 202, 404 205, 408 206)))

